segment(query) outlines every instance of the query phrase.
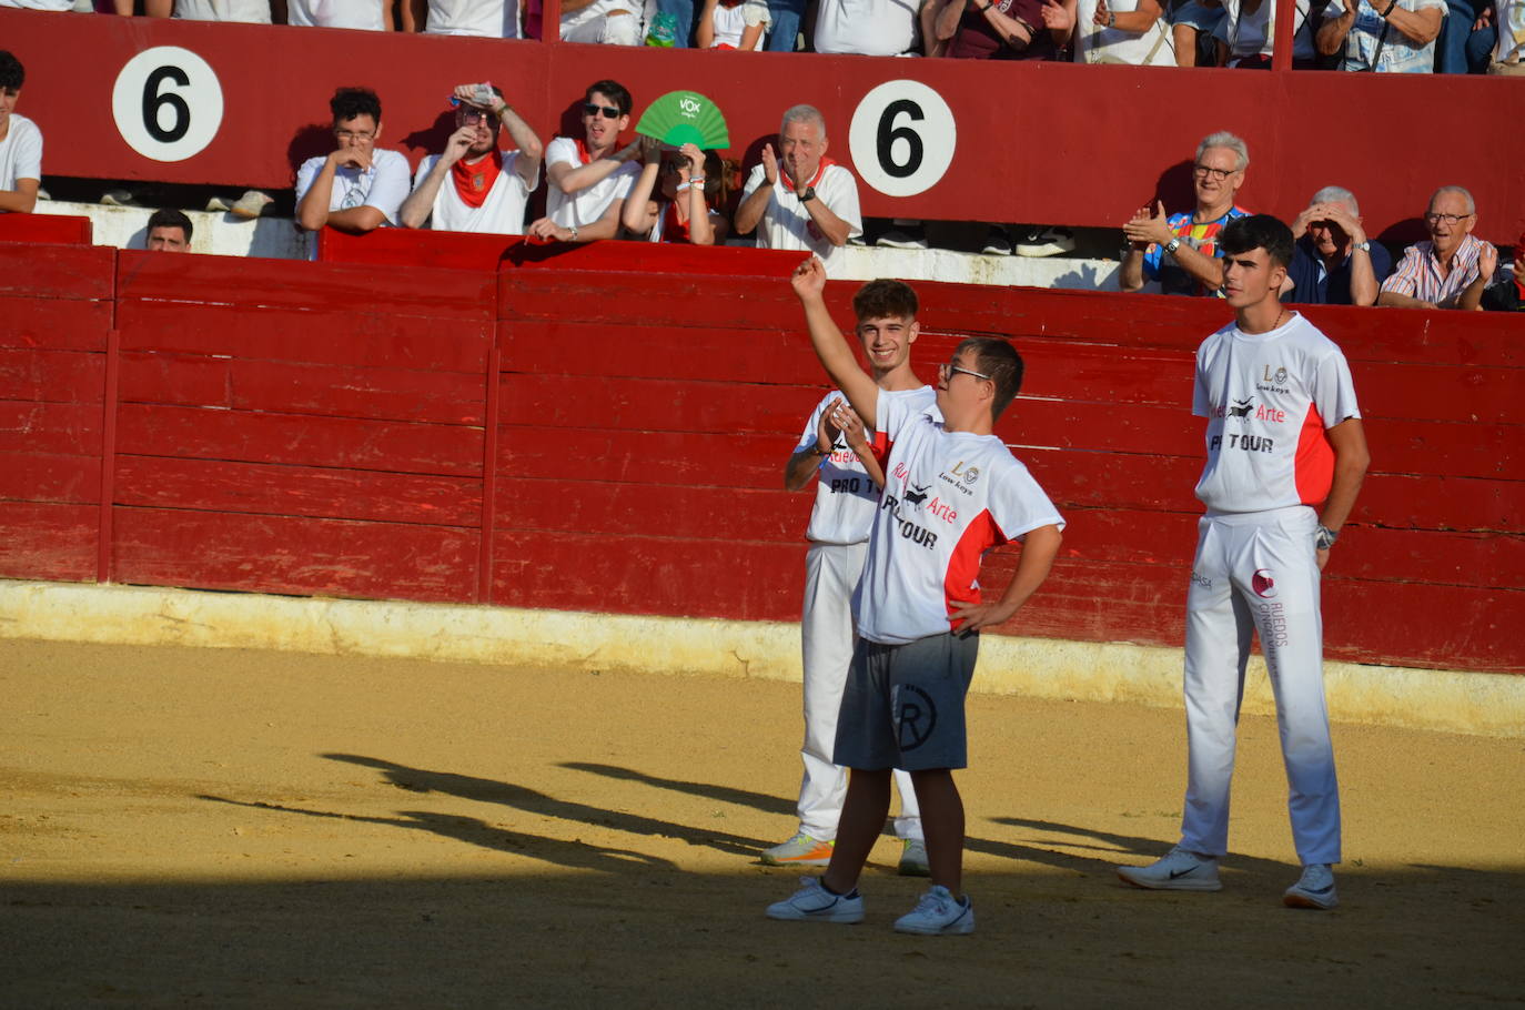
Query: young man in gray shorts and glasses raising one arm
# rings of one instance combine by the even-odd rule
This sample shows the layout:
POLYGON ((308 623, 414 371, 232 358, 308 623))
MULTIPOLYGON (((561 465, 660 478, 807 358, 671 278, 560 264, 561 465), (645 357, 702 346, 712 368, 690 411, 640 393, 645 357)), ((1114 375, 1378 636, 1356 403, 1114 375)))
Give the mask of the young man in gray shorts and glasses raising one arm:
POLYGON ((856 923, 857 879, 884 825, 892 769, 910 772, 927 839, 932 886, 895 922, 900 932, 968 934, 974 909, 961 897, 964 803, 953 770, 967 766, 964 694, 978 632, 1010 619, 1037 590, 1058 552, 1063 519, 1026 467, 993 435, 1022 386, 1022 357, 1005 340, 970 337, 942 365, 942 420, 888 397, 842 340, 824 298, 825 265, 795 272, 810 339, 886 453, 868 560, 854 593, 859 644, 842 696, 837 764, 852 769, 825 876, 807 877, 770 918, 856 923), (1025 546, 1000 600, 981 600, 985 549, 1025 546))

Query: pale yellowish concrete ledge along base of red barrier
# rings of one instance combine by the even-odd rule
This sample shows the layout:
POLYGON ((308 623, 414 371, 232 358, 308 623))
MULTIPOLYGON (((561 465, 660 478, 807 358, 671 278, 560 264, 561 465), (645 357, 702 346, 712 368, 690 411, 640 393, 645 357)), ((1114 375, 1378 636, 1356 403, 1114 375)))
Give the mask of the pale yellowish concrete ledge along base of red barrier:
MULTIPOLYGON (((799 626, 0 580, 0 639, 799 680, 799 626)), ((974 690, 1180 708, 1180 650, 987 636, 974 690)), ((1330 662, 1337 722, 1525 737, 1525 677, 1330 662)), ((1275 712, 1250 662, 1244 711, 1275 712)))

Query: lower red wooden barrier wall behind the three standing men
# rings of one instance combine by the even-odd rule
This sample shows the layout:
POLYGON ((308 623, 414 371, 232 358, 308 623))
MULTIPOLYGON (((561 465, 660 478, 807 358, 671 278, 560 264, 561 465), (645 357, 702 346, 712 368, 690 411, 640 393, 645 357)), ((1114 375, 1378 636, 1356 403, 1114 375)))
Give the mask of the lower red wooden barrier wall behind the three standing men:
MULTIPOLYGON (((798 616, 811 496, 782 464, 822 377, 795 256, 372 238, 319 264, 0 246, 0 577, 798 616)), ((1006 630, 1177 645, 1222 305, 918 288, 921 374, 970 333, 1026 357, 999 433, 1071 522, 1006 630)), ((1520 320, 1310 316, 1374 456, 1330 655, 1525 671, 1520 320)))

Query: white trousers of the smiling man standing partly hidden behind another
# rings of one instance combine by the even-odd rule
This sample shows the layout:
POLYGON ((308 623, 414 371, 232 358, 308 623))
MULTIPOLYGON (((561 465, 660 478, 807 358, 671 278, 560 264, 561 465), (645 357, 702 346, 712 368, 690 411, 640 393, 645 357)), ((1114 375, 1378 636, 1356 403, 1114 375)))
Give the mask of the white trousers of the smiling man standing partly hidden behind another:
MULTIPOLYGON (((831 761, 837 745, 837 712, 852 665, 857 630, 852 589, 868 557, 866 543, 816 543, 805 554, 805 609, 801 619, 805 661, 805 777, 799 784, 799 830, 831 841, 837 836, 848 769, 831 761)), ((900 789, 898 838, 921 838, 921 810, 909 772, 895 772, 900 789)))

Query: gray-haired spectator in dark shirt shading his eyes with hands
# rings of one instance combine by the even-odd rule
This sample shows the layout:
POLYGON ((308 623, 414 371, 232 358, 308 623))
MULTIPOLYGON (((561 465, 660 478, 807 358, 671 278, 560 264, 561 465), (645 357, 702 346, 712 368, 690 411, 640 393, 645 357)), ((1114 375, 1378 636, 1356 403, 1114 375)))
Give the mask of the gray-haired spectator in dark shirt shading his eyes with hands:
POLYGON ((1283 302, 1376 305, 1377 285, 1392 273, 1392 258, 1366 238, 1350 189, 1325 186, 1292 223, 1296 246, 1283 302))

